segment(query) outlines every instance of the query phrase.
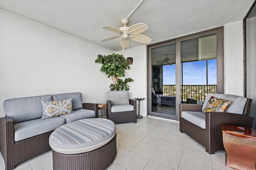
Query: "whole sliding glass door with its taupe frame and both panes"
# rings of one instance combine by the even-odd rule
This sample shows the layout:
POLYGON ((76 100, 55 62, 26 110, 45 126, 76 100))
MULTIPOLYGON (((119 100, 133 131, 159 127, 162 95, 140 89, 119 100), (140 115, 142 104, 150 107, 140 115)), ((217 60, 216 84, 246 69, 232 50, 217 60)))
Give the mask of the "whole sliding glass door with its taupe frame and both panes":
POLYGON ((148 46, 148 115, 179 121, 179 104, 224 93, 223 28, 148 46))

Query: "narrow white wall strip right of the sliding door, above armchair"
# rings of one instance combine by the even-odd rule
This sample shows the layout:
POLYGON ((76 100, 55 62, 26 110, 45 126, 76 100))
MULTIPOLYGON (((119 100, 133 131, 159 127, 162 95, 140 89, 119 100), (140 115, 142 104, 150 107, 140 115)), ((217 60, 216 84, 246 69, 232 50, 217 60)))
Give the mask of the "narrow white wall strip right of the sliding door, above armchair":
POLYGON ((244 96, 242 21, 224 25, 224 93, 244 96))

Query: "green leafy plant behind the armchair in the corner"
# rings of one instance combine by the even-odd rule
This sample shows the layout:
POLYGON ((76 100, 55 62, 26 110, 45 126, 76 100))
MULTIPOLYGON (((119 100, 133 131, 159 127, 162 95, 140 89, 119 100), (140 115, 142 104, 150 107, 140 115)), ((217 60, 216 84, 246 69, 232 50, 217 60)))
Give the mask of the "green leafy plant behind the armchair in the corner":
POLYGON ((110 85, 110 91, 114 90, 129 90, 127 83, 133 82, 131 78, 126 78, 124 81, 120 77, 124 77, 124 72, 129 69, 130 66, 123 55, 111 54, 111 55, 98 55, 95 63, 102 64, 100 71, 105 72, 108 78, 111 76, 114 84, 110 85))

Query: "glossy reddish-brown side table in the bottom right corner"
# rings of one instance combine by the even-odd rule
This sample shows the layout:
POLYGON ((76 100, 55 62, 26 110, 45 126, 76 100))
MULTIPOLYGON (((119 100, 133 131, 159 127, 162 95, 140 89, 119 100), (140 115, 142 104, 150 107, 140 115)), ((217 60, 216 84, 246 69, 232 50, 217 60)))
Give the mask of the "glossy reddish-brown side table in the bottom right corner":
POLYGON ((255 170, 256 130, 222 124, 226 166, 235 170, 255 170))

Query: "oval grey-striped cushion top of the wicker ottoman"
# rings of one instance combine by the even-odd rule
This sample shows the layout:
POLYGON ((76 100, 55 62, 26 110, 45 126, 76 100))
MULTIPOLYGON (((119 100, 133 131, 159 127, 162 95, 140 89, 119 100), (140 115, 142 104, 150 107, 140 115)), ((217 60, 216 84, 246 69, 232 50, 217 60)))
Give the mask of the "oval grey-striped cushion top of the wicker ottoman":
POLYGON ((81 119, 54 130, 49 144, 56 152, 79 154, 104 146, 115 135, 116 125, 108 119, 81 119))

